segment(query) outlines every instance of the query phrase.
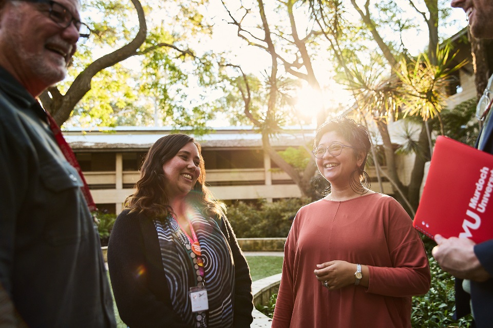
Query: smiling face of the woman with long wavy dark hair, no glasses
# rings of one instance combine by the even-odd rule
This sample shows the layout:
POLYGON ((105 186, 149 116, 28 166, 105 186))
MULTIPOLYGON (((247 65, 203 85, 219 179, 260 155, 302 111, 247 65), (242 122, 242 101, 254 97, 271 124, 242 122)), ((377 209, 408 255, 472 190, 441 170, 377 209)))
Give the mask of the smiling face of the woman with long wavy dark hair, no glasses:
POLYGON ((166 195, 169 199, 185 197, 200 176, 200 154, 193 142, 185 144, 176 155, 163 164, 166 195))

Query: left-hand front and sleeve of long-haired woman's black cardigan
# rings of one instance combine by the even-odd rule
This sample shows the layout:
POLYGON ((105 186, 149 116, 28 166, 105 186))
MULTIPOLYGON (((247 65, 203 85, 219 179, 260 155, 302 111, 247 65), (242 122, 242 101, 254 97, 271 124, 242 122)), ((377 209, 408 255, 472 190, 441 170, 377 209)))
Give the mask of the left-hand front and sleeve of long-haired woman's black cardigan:
POLYGON ((120 318, 130 328, 191 328, 173 311, 170 301, 163 301, 169 292, 162 287, 164 270, 155 267, 159 263, 155 259, 159 257, 157 235, 144 236, 142 220, 142 216, 123 211, 108 243, 109 274, 120 318), (145 247, 152 238, 156 238, 156 253, 145 247), (161 271, 162 279, 156 279, 161 271))

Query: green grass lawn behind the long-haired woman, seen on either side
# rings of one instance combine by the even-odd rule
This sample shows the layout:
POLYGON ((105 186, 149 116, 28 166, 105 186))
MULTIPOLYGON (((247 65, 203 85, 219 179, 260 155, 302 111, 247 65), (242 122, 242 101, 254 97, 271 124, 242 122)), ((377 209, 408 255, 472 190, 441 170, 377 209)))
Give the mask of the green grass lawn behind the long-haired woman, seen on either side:
MULTIPOLYGON (((252 275, 252 280, 255 281, 281 273, 282 259, 283 258, 280 256, 247 256, 247 262, 250 266, 250 274, 252 275)), ((115 316, 117 318, 118 328, 127 328, 127 325, 123 323, 123 321, 120 319, 120 316, 118 315, 115 300, 113 300, 113 305, 115 306, 115 316)))

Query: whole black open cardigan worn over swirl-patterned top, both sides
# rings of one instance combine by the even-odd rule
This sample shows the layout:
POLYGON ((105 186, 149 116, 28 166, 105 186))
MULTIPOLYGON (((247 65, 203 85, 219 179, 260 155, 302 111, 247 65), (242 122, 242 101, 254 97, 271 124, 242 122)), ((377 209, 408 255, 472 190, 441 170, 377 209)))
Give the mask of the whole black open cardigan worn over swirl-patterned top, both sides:
MULTIPOLYGON (((250 270, 226 218, 220 228, 235 263, 234 327, 250 327, 250 270)), ((130 328, 191 328, 173 311, 153 220, 122 211, 111 231, 108 267, 120 318, 130 328)))

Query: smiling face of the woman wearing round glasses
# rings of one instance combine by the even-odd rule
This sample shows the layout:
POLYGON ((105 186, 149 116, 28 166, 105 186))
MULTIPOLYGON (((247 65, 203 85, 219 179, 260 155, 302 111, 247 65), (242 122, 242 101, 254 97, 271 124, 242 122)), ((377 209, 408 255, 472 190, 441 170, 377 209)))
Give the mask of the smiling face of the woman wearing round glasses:
MULTIPOLYGON (((352 146, 345 138, 340 136, 335 131, 326 132, 320 138, 318 147, 329 147, 332 143, 339 143, 345 146, 352 146)), ((330 155, 328 151, 321 159, 316 159, 320 174, 335 186, 349 185, 349 179, 354 170, 362 164, 364 154, 355 155, 354 149, 343 148, 340 154, 336 157, 330 155)))

